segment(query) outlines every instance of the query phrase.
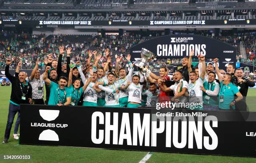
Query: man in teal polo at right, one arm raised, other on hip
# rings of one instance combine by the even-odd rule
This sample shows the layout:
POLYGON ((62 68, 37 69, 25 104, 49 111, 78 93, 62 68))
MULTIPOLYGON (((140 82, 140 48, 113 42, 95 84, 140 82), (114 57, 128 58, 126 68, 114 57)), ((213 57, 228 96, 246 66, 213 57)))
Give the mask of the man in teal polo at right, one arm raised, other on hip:
MULTIPOLYGON (((239 92, 236 85, 232 83, 232 75, 230 73, 226 73, 222 80, 222 74, 220 73, 220 69, 218 68, 218 58, 214 59, 216 73, 219 77, 220 82, 220 93, 219 93, 219 110, 234 110, 234 105, 243 99, 243 95, 239 92), (238 96, 237 99, 234 100, 234 96, 238 96)), ((228 68, 227 68, 228 69, 228 68)), ((229 70, 229 72, 231 72, 229 70)))

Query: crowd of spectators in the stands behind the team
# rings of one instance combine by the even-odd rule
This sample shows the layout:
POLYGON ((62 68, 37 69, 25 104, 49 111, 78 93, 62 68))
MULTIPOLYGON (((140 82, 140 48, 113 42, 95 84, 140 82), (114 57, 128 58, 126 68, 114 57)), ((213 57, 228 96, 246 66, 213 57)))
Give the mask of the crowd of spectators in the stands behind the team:
MULTIPOLYGON (((182 33, 181 33, 182 34, 182 33)), ((210 33, 201 31, 195 33, 210 37, 210 33)), ((5 65, 5 58, 12 58, 13 63, 10 68, 15 68, 20 60, 22 61, 23 69, 32 69, 36 63, 37 58, 40 60, 40 69, 44 69, 47 64, 44 62, 49 53, 52 53, 54 59, 58 57, 58 47, 64 45, 65 48, 72 47, 74 52, 72 55, 72 62, 80 60, 83 64, 87 62, 89 53, 97 50, 102 53, 101 63, 107 60, 105 50, 110 50, 113 67, 115 67, 115 58, 120 57, 120 64, 122 67, 128 69, 128 63, 124 56, 129 53, 129 49, 145 40, 160 36, 159 33, 153 33, 148 37, 141 35, 49 35, 44 34, 32 35, 29 33, 14 33, 1 32, 0 33, 0 69, 5 65)), ((241 63, 256 63, 256 42, 254 33, 238 33, 234 35, 218 36, 216 39, 228 43, 237 48, 237 62, 241 63), (243 58, 240 54, 240 42, 246 48, 247 58, 243 58)), ((62 62, 65 63, 66 57, 63 57, 62 62)), ((193 60, 197 62, 197 60, 193 60)), ((93 62, 93 60, 92 60, 93 62)), ((163 66, 170 66, 172 64, 180 64, 180 59, 161 59, 155 60, 150 64, 150 69, 159 71, 163 66)))

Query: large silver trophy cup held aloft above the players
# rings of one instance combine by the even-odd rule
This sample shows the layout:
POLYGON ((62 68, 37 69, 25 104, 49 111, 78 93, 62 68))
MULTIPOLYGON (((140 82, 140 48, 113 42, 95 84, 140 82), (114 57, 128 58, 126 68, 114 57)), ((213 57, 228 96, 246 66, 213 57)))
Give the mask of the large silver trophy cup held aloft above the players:
POLYGON ((145 48, 141 49, 141 59, 138 59, 134 62, 134 65, 138 66, 139 68, 142 68, 145 65, 148 65, 148 62, 154 60, 156 58, 156 55, 152 53, 149 50, 146 50, 145 48))

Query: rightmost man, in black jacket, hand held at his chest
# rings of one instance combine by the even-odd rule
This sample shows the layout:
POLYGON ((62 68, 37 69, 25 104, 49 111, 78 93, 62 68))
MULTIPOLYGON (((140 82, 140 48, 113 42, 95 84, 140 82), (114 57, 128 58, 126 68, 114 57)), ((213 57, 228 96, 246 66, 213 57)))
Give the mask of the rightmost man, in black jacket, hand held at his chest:
POLYGON ((241 68, 236 69, 235 76, 236 78, 235 78, 234 84, 237 86, 239 92, 243 95, 243 100, 238 101, 236 103, 236 110, 246 111, 247 110, 246 96, 247 96, 248 88, 254 87, 255 83, 243 77, 243 70, 241 68))

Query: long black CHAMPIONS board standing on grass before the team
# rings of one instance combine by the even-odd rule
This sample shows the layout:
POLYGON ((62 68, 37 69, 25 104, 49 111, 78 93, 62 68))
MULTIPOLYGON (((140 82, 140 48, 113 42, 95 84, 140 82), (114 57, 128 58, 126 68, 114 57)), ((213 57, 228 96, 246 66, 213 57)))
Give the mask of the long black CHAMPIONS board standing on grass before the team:
POLYGON ((20 144, 256 157, 256 112, 21 105, 20 120, 20 144))

